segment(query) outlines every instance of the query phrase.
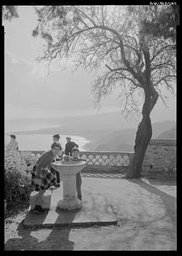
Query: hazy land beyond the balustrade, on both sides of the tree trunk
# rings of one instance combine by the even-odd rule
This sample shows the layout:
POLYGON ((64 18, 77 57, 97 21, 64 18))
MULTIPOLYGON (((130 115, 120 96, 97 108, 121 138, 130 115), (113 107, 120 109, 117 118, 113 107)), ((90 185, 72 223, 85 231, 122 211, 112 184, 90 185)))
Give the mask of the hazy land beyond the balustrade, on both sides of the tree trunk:
MULTIPOLYGON (((134 140, 139 122, 128 122, 120 113, 100 113, 88 116, 74 116, 60 119, 16 119, 9 120, 7 125, 13 127, 20 123, 21 127, 46 125, 47 128, 32 131, 14 131, 14 134, 66 134, 86 137, 90 143, 88 150, 121 150, 133 151, 134 140), (53 125, 51 127, 51 125, 53 125)), ((152 138, 172 129, 175 121, 166 120, 152 124, 152 138)), ((17 126, 18 127, 18 126, 17 126)), ((23 129, 22 129, 23 130, 23 129)), ((13 130, 11 131, 13 133, 13 130)))

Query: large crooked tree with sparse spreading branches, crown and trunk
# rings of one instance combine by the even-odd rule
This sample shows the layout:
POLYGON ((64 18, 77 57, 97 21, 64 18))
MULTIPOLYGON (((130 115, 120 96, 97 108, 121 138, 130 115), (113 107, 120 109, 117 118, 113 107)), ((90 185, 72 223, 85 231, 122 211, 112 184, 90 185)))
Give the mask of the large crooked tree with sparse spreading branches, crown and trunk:
POLYGON ((36 11, 38 24, 32 35, 47 41, 39 60, 74 56, 76 67, 96 72, 95 102, 117 89, 125 113, 138 112, 142 97, 142 119, 128 172, 129 178, 139 177, 152 136, 151 111, 158 96, 164 101, 162 87, 174 92, 175 24, 167 28, 171 33, 162 34, 165 14, 172 17, 173 10, 168 6, 45 6, 36 11))

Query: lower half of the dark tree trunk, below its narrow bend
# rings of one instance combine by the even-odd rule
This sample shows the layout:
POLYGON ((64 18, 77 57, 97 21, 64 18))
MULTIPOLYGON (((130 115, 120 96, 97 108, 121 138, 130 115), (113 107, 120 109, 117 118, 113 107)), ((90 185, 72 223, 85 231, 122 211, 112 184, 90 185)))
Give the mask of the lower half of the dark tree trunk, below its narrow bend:
POLYGON ((143 116, 143 119, 139 123, 138 131, 136 134, 135 145, 134 145, 134 159, 129 166, 129 172, 127 177, 134 178, 140 177, 142 171, 142 164, 145 157, 145 151, 148 143, 151 140, 152 129, 151 129, 151 118, 150 115, 143 116))

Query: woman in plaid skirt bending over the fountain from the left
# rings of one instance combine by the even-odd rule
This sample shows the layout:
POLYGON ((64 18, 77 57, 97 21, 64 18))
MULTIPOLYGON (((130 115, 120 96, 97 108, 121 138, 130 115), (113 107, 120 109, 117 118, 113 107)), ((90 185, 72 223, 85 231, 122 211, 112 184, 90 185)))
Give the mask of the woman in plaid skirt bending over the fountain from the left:
POLYGON ((56 183, 56 177, 50 172, 51 163, 55 155, 59 154, 61 150, 60 143, 53 143, 51 149, 43 153, 37 160, 31 172, 31 184, 35 185, 35 190, 39 191, 37 195, 37 205, 33 209, 34 212, 44 212, 42 205, 43 194, 46 189, 56 183))

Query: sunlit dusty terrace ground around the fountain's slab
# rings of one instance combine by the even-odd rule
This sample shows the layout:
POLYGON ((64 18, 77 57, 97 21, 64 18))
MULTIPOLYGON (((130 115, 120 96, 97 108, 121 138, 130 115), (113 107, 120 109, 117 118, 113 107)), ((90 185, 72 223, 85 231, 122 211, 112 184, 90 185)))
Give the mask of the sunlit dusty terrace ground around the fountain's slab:
MULTIPOLYGON (((111 207, 117 224, 25 229, 19 216, 14 220, 14 235, 10 233, 5 237, 5 249, 176 250, 176 187, 173 183, 157 183, 155 179, 146 178, 83 176, 83 205, 89 195, 92 195, 92 206, 98 212, 104 210, 103 204, 111 207), (100 199, 104 201, 98 206, 100 199)), ((46 219, 48 215, 45 214, 42 221, 46 219)), ((76 215, 72 221, 74 219, 76 215)))

